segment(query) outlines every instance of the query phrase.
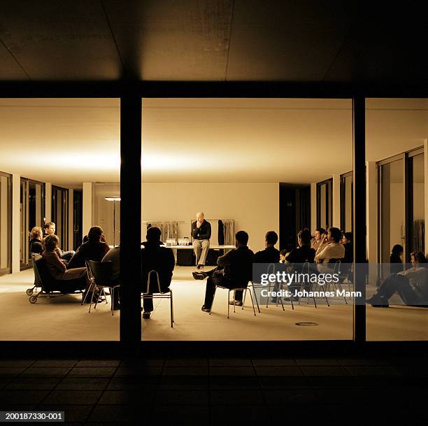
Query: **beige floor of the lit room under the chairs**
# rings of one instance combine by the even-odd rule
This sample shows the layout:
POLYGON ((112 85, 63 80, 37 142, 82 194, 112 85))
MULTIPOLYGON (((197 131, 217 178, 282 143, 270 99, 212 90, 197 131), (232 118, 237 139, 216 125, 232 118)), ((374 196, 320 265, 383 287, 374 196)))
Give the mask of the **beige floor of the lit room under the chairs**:
MULTIPOLYGON (((169 323, 169 300, 156 300, 150 320, 143 320, 147 340, 343 340, 352 339, 352 305, 320 299, 312 305, 260 306, 255 316, 249 297, 242 310, 231 306, 227 319, 227 291, 218 290, 211 315, 201 311, 205 281, 194 281, 192 267, 177 267, 172 289, 174 327, 169 323), (316 322, 301 327, 296 322, 316 322)), ((0 339, 108 341, 119 339, 120 313, 110 313, 110 304, 101 304, 88 313, 80 296, 41 298, 30 304, 25 290, 34 281, 31 269, 0 277, 0 339)), ((110 300, 108 300, 110 302, 110 300)), ((367 339, 426 340, 428 309, 407 306, 367 307, 367 339)))

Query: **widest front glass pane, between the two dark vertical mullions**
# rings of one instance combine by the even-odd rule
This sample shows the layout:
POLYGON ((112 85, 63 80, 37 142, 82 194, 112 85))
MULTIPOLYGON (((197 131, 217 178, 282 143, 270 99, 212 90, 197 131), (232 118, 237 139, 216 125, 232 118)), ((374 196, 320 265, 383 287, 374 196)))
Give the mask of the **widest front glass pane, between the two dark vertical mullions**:
MULTIPOLYGON (((352 104, 348 99, 143 99, 142 241, 148 225, 159 227, 161 236, 166 236, 176 226, 178 244, 174 244, 173 238, 168 243, 176 256, 171 281, 174 316, 177 321, 182 318, 179 331, 176 325, 171 328, 169 300, 156 299, 155 309, 148 308, 152 311, 152 320, 143 320, 143 339, 352 339, 353 299, 338 296, 336 288, 331 287, 334 295, 328 305, 318 294, 322 293, 317 292, 319 287, 314 287, 317 289, 315 299, 303 296, 298 299, 298 294, 294 294, 294 299, 284 293, 278 296, 273 286, 266 287, 266 294, 258 287, 255 290, 257 301, 254 300, 257 316, 252 310, 250 294, 246 294, 244 308, 235 310, 230 306, 230 319, 227 319, 228 292, 218 289, 211 299, 212 287, 207 287, 211 279, 195 274, 198 270, 213 274, 220 252, 222 255, 229 250, 230 244, 230 249, 234 249, 234 232, 241 230, 248 233, 248 247, 255 253, 261 252, 260 256, 264 255, 266 232, 279 231, 275 248, 285 250, 284 257, 286 253, 304 253, 304 250, 315 257, 315 249, 308 247, 311 235, 318 225, 333 225, 331 178, 352 169, 351 112, 352 104), (242 149, 243 138, 245 150, 242 149), (331 162, 331 152, 334 152, 334 162, 331 162), (240 159, 238 167, 237 157, 240 159), (285 158, 287 166, 284 166, 285 158), (302 208, 301 185, 309 182, 313 183, 311 191, 315 194, 309 193, 305 198, 306 206, 302 208), (311 201, 315 208, 311 208, 311 201), (301 214, 306 209, 311 209, 309 220, 301 214), (206 257, 202 255, 202 248, 199 250, 202 246, 199 241, 206 239, 198 241, 191 232, 191 222, 197 226, 196 215, 201 211, 204 221, 211 227, 206 257), (233 223, 234 232, 225 232, 224 226, 219 231, 220 220, 222 225, 230 225, 228 231, 233 223), (301 249, 297 233, 311 226, 314 229, 310 229, 309 235, 303 233, 305 242, 301 240, 301 244, 306 247, 301 249), (229 236, 231 239, 227 241, 229 236), (197 263, 203 263, 204 267, 197 269, 197 263), (212 307, 212 315, 201 312, 202 304, 212 307), (311 319, 308 318, 310 311, 311 319), (262 319, 269 324, 262 324, 262 319), (213 327, 213 320, 218 327, 213 327), (314 327, 296 324, 308 320, 314 327), (236 327, 228 327, 232 322, 236 327), (210 331, 207 333, 207 330, 210 331)), ((104 203, 102 187, 97 184, 96 188, 100 197, 97 196, 99 207, 95 217, 101 218, 101 213, 107 211, 101 207, 104 203)), ((339 203, 340 199, 333 201, 339 203)), ((109 211, 111 215, 111 207, 109 211)), ((104 220, 107 223, 107 215, 104 220)), ((104 229, 108 232, 106 226, 104 229)), ((314 238, 313 245, 319 246, 320 241, 314 238)), ((336 248, 343 249, 344 254, 345 248, 336 248)), ((320 260, 325 260, 324 265, 318 262, 320 268, 323 266, 329 271, 339 266, 338 262, 330 262, 327 266, 327 257, 320 260)), ((143 264, 143 270, 150 268, 147 263, 143 264)), ((292 270, 306 271, 301 265, 297 267, 297 263, 294 262, 292 270)), ((311 264, 314 266, 315 262, 311 264)), ((273 266, 280 268, 276 263, 273 266)), ((344 290, 352 290, 352 280, 345 271, 340 279, 344 290)), ((147 278, 143 281, 147 285, 147 278)), ((241 294, 235 296, 241 301, 241 294)))

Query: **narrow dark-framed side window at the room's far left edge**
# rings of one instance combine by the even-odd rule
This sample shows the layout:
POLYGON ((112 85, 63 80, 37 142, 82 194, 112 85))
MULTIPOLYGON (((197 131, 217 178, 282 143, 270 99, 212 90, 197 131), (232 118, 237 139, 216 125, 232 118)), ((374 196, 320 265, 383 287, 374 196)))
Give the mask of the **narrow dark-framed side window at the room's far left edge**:
POLYGON ((0 275, 11 270, 11 176, 0 171, 0 275))

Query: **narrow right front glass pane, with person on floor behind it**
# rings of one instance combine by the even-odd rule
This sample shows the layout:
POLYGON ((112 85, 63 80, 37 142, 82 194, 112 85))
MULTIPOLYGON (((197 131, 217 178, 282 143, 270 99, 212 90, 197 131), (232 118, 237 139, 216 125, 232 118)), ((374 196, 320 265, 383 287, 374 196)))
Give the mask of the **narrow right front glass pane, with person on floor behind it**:
POLYGON ((368 341, 428 339, 427 269, 409 256, 424 250, 427 101, 366 99, 368 341))

